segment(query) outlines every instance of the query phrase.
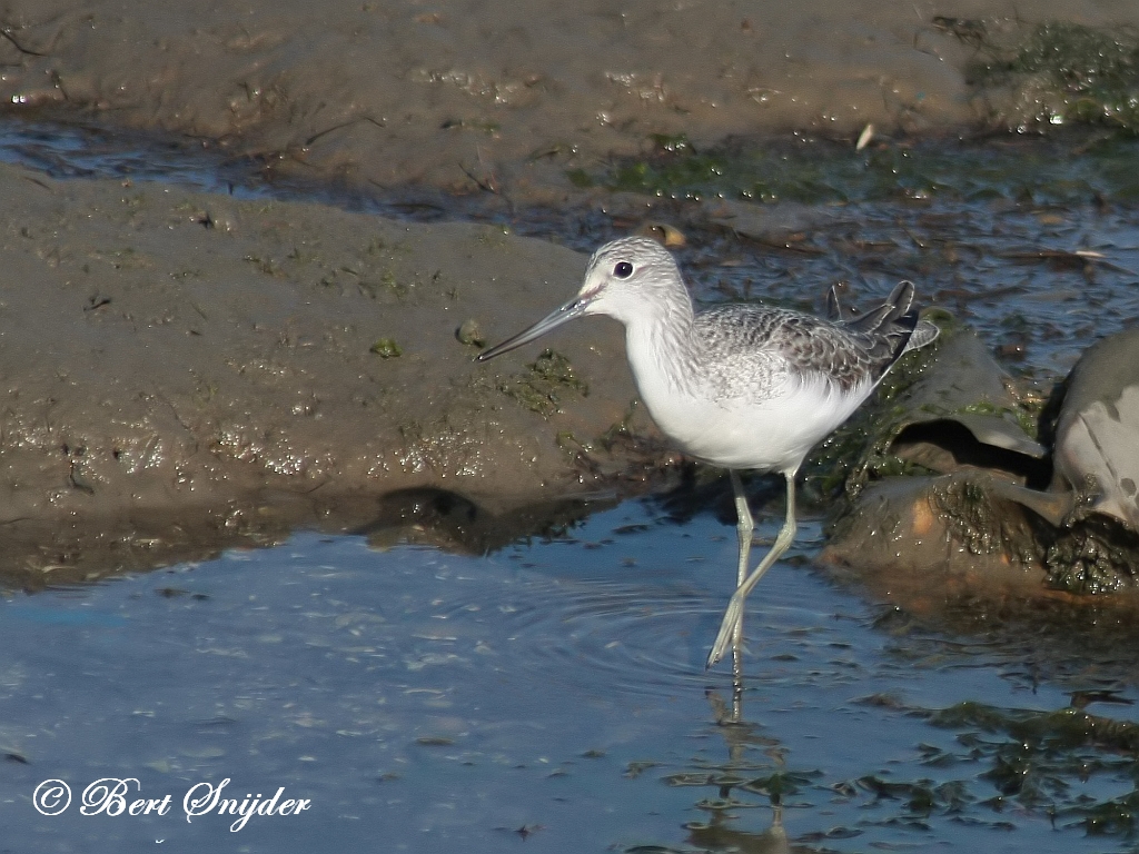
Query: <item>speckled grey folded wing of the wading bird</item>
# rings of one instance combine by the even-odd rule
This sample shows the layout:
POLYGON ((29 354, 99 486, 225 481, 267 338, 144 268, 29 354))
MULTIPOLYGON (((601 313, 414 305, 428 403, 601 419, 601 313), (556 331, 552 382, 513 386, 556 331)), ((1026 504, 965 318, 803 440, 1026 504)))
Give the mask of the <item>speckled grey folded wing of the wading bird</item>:
POLYGON ((696 330, 708 363, 719 370, 739 376, 741 362, 775 359, 785 369, 849 389, 877 383, 901 355, 917 322, 916 314, 899 314, 901 307, 883 306, 849 323, 833 323, 786 309, 732 304, 702 311, 696 330), (876 322, 868 322, 869 315, 876 322))

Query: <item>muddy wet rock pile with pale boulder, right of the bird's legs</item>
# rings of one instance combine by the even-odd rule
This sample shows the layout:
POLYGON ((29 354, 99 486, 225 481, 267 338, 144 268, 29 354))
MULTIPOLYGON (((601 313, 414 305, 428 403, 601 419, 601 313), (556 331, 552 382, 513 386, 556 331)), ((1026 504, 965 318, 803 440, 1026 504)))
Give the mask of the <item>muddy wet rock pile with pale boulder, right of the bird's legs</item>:
POLYGON ((902 573, 990 591, 1130 586, 1139 332, 1091 347, 1050 402, 1054 418, 972 332, 944 335, 918 370, 861 426, 844 469, 850 503, 822 561, 887 585, 902 573))

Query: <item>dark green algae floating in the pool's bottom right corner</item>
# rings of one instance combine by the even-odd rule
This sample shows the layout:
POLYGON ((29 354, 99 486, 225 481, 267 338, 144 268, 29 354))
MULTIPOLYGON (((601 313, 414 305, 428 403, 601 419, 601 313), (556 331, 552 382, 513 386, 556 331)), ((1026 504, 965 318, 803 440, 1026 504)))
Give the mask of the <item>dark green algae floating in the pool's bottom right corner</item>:
MULTIPOLYGON (((1111 692, 1103 692, 1092 701, 1113 700, 1111 692)), ((772 761, 760 749, 762 745, 752 744, 726 764, 697 758, 663 782, 710 790, 697 806, 711 820, 690 826, 710 834, 705 841, 738 843, 743 834, 727 830, 724 818, 735 819, 748 808, 778 808, 793 799, 800 805, 844 804, 863 816, 796 837, 801 844, 825 844, 821 851, 846 851, 834 843, 857 839, 871 827, 933 834, 964 823, 1009 832, 1032 820, 1050 823, 1054 831, 1115 839, 1124 846, 1120 849, 1133 849, 1139 816, 1136 723, 1092 714, 1075 695, 1070 706, 1039 709, 978 700, 937 708, 893 695, 871 695, 854 703, 921 720, 951 738, 915 744, 915 764, 908 770, 888 763, 880 770, 836 779, 810 765, 798 766, 784 755, 772 761)), ((739 846, 704 845, 700 849, 729 847, 739 846)))

